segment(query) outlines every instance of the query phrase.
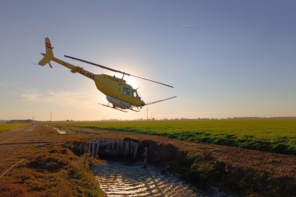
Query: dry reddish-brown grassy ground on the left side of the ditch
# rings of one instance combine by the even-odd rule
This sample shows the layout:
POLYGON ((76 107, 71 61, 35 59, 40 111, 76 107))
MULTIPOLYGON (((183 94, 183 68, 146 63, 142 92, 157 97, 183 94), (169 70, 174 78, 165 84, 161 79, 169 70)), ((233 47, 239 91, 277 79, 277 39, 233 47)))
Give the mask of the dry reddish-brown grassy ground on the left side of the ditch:
POLYGON ((0 178, 0 196, 105 196, 89 170, 89 164, 99 160, 75 156, 63 147, 63 140, 59 138, 55 130, 45 125, 29 126, 0 135, 0 143, 56 141, 43 147, 38 144, 0 145, 0 174, 12 164, 26 159, 0 178))

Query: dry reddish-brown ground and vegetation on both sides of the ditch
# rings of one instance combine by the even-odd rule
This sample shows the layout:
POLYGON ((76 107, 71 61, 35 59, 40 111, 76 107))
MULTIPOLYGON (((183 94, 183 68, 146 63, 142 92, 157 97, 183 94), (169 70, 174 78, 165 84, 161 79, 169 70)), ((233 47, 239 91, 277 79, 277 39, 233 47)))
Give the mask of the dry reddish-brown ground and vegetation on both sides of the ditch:
POLYGON ((75 156, 63 144, 90 138, 122 140, 124 137, 145 141, 150 161, 160 157, 162 161, 158 164, 200 184, 216 184, 239 196, 296 195, 294 156, 138 133, 63 127, 67 134, 59 135, 44 124, 0 134, 0 143, 56 142, 44 147, 0 145, 0 174, 12 164, 27 159, 0 178, 0 196, 102 196, 88 168, 90 158, 75 156))

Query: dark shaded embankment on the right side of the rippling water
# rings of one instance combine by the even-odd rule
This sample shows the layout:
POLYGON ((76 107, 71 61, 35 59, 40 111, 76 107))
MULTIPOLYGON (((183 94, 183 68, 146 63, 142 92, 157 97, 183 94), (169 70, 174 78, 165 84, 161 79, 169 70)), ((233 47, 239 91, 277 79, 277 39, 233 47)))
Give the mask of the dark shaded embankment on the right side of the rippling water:
POLYGON ((238 197, 296 195, 295 170, 287 170, 289 166, 286 164, 279 166, 281 163, 279 159, 262 161, 264 153, 260 153, 259 161, 253 162, 264 162, 274 171, 264 169, 262 166, 248 165, 244 162, 250 159, 248 155, 241 159, 241 163, 223 160, 222 157, 217 157, 210 145, 200 146, 200 151, 190 152, 169 143, 159 144, 150 140, 142 141, 142 147, 144 146, 148 146, 149 149, 148 161, 170 172, 182 174, 186 180, 202 188, 217 186, 238 197))

